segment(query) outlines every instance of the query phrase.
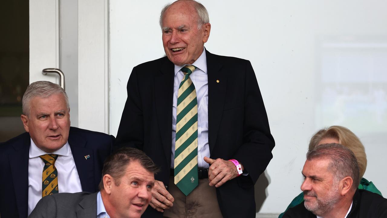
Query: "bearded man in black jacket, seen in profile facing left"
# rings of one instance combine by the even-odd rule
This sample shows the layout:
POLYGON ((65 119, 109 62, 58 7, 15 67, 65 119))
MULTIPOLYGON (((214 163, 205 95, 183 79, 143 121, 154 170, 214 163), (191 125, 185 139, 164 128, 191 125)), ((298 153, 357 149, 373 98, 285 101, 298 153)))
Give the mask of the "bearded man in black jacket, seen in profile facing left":
POLYGON ((309 151, 302 175, 305 202, 289 208, 284 218, 387 217, 387 199, 358 189, 358 162, 340 144, 323 144, 309 151))

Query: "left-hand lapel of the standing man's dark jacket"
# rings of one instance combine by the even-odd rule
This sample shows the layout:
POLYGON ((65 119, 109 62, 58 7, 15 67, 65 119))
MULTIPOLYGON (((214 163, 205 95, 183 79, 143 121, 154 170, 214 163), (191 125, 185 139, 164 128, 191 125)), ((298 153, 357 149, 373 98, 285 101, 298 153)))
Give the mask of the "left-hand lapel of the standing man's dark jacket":
POLYGON ((160 68, 159 74, 156 74, 155 76, 154 96, 161 141, 163 143, 165 156, 167 160, 169 160, 168 166, 171 164, 171 128, 174 76, 174 65, 167 58, 165 58, 160 68))

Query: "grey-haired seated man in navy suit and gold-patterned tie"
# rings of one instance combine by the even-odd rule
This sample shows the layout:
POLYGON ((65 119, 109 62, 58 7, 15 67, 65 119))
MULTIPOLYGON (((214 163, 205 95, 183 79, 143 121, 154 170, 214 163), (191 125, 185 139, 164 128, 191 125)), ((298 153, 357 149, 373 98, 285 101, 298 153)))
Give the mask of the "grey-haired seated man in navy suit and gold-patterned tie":
POLYGON ((0 214, 27 217, 36 203, 58 192, 96 192, 114 137, 70 127, 65 91, 48 81, 23 95, 26 133, 0 144, 0 214))

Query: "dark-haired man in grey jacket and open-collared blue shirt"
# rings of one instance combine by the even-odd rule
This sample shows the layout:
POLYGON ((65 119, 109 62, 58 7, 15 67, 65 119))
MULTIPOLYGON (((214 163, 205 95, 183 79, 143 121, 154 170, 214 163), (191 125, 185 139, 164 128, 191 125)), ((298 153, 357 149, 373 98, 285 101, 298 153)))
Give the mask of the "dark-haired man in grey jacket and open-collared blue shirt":
POLYGON ((106 158, 99 192, 44 197, 29 218, 140 218, 151 201, 158 170, 139 149, 119 149, 106 158))

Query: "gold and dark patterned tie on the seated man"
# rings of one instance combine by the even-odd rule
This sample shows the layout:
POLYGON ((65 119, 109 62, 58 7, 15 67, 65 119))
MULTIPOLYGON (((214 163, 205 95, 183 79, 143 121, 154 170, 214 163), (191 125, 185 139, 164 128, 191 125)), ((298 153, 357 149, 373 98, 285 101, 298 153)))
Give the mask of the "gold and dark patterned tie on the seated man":
POLYGON ((45 166, 43 167, 42 174, 42 197, 52 195, 59 192, 58 189, 58 170, 54 164, 58 158, 57 154, 45 154, 39 156, 45 166))

